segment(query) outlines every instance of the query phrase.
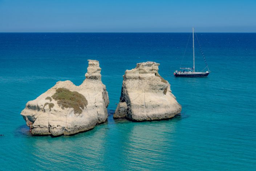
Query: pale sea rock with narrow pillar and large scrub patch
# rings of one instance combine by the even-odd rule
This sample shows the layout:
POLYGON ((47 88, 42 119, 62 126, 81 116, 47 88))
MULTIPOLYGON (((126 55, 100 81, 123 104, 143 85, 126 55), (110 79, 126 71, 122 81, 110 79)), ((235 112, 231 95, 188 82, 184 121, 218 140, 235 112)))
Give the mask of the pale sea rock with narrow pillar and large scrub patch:
POLYGON ((75 134, 106 121, 109 96, 101 82, 101 68, 98 61, 88 61, 86 79, 80 86, 58 81, 26 104, 21 115, 32 134, 75 134))

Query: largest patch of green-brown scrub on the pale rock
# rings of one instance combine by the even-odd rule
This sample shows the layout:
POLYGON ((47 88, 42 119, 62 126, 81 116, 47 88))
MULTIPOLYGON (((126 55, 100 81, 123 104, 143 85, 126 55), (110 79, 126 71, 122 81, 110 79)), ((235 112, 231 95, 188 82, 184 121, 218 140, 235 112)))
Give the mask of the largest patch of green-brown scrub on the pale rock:
POLYGON ((57 101, 58 105, 64 109, 73 108, 74 113, 82 113, 88 102, 84 95, 78 93, 77 91, 70 91, 65 88, 58 88, 56 93, 52 95, 52 98, 57 101))

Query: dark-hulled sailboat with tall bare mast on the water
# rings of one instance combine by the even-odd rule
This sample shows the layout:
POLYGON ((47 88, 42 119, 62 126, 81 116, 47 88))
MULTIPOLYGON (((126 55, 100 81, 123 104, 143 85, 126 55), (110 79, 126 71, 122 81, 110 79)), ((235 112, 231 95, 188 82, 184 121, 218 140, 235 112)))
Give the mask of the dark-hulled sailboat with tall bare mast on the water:
MULTIPOLYGON (((204 61, 206 63, 206 68, 208 68, 208 70, 206 72, 195 72, 194 27, 192 28, 192 32, 193 32, 193 68, 182 67, 182 68, 180 68, 180 69, 182 69, 182 71, 176 70, 173 73, 175 77, 207 77, 210 74, 210 70, 208 68, 205 58, 204 58, 204 61)), ((200 47, 200 49, 201 49, 201 47, 200 47)), ((202 49, 201 49, 201 52, 203 54, 202 49)), ((204 57, 204 54, 203 54, 203 57, 204 57)))

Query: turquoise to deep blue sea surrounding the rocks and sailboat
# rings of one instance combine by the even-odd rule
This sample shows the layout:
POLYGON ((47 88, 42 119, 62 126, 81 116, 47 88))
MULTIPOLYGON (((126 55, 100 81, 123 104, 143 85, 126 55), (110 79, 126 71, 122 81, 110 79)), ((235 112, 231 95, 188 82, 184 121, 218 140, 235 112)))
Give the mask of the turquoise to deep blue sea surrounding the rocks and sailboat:
MULTIPOLYGON (((190 33, 0 33, 0 170, 255 170, 256 33, 198 33, 212 73, 175 78, 192 66, 190 33), (183 58, 183 60, 182 60, 183 58), (31 136, 20 115, 57 81, 84 80, 99 60, 108 122, 73 136, 31 136), (170 120, 114 120, 122 75, 160 63, 182 105, 170 120)), ((196 69, 205 67, 197 44, 196 69)))

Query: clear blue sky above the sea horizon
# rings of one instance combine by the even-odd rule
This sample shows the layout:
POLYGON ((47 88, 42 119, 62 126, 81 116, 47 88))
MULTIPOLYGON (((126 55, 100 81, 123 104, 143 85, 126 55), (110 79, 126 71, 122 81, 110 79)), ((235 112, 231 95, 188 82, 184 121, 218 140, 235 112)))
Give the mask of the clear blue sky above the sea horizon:
POLYGON ((0 0, 0 32, 256 32, 256 0, 0 0))

